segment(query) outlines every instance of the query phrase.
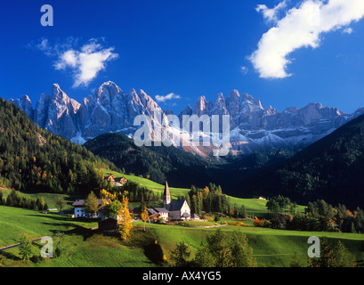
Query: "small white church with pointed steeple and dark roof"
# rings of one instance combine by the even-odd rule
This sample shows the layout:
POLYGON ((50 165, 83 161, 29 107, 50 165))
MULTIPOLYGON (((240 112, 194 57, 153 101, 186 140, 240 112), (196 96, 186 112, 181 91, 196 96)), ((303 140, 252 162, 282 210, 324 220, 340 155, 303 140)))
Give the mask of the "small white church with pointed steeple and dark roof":
POLYGON ((166 182, 165 191, 163 192, 163 206, 164 208, 148 208, 150 216, 162 217, 168 220, 190 220, 190 206, 185 199, 172 200, 169 191, 168 183, 166 182))

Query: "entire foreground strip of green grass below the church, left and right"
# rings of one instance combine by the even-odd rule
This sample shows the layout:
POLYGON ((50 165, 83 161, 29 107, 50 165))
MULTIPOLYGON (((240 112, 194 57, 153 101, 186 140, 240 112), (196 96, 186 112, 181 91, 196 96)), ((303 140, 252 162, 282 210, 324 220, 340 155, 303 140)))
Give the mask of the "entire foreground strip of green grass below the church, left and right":
MULTIPOLYGON (((222 221, 224 221, 222 219, 222 221)), ((249 224, 244 221, 245 224, 249 224)), ((214 223, 208 223, 212 225, 214 223)), ((142 228, 141 222, 133 223, 134 229, 142 228)), ((195 225, 195 224, 191 224, 195 225)), ((202 225, 202 224, 201 224, 202 225)), ((206 225, 206 224, 203 224, 206 225)), ((32 238, 44 235, 53 236, 56 232, 65 232, 62 242, 62 255, 40 263, 24 264, 20 260, 19 249, 7 249, 4 252, 6 266, 156 266, 145 255, 143 248, 125 245, 117 237, 92 234, 91 228, 96 223, 78 222, 68 216, 59 214, 42 214, 21 208, 0 206, 0 247, 19 242, 21 233, 32 238)), ((184 241, 190 246, 192 257, 201 242, 216 228, 193 228, 181 225, 147 224, 167 258, 176 243, 184 241)), ((342 240, 358 260, 364 259, 364 235, 359 233, 336 232, 298 232, 275 230, 261 227, 242 227, 228 225, 220 227, 222 231, 241 231, 247 235, 249 245, 253 248, 258 266, 287 266, 297 252, 301 262, 306 264, 307 239, 310 236, 327 237, 330 242, 342 240)), ((137 238, 137 237, 135 237, 137 238)))

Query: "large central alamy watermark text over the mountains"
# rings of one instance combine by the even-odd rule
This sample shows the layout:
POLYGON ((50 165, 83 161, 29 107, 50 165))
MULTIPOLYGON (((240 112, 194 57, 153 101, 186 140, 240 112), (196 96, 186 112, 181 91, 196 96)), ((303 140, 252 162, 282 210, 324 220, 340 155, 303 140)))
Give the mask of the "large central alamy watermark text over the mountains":
POLYGON ((230 116, 229 115, 165 115, 154 112, 153 119, 147 115, 136 116, 133 126, 141 126, 133 134, 137 146, 214 146, 214 156, 226 156, 230 151, 230 116), (202 127, 201 127, 202 126, 202 127))

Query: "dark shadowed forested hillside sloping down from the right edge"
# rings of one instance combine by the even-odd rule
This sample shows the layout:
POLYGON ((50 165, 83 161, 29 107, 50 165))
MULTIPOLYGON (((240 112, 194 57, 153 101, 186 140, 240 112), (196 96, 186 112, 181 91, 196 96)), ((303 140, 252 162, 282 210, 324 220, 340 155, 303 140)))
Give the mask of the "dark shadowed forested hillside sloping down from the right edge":
POLYGON ((285 163, 253 175, 239 196, 282 194, 305 203, 325 199, 350 208, 364 206, 364 116, 298 152, 285 163))

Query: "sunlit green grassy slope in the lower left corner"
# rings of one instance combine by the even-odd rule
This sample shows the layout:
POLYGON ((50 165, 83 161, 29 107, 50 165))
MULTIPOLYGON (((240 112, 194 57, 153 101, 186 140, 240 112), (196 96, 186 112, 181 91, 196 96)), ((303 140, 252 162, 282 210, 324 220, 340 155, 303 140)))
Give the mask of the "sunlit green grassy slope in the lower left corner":
MULTIPOLYGON (((18 243, 22 233, 36 239, 65 232, 62 254, 40 263, 24 263, 19 248, 1 252, 4 266, 56 267, 143 267, 155 266, 143 253, 143 248, 130 247, 117 237, 93 234, 95 222, 78 222, 60 214, 42 214, 39 211, 0 206, 0 248, 18 243)), ((38 248, 39 242, 35 243, 38 248)), ((36 248, 36 246, 35 246, 36 248)))

